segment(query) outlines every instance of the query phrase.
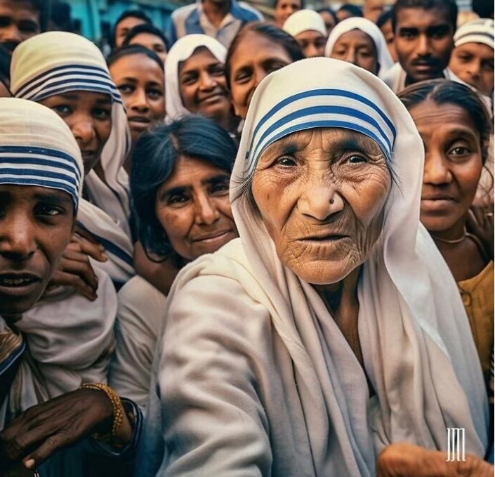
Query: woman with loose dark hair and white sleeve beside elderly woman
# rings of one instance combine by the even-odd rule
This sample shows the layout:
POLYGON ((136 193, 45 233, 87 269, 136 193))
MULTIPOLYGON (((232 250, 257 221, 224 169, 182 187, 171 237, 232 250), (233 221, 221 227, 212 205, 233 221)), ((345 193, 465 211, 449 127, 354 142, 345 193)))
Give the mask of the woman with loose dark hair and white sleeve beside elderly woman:
MULTIPOLYGON (((215 122, 188 116, 138 139, 131 196, 138 237, 153 261, 180 268, 237 237, 229 182, 237 146, 215 122)), ((136 275, 119 292, 117 347, 110 383, 145 407, 152 356, 168 289, 136 275)))

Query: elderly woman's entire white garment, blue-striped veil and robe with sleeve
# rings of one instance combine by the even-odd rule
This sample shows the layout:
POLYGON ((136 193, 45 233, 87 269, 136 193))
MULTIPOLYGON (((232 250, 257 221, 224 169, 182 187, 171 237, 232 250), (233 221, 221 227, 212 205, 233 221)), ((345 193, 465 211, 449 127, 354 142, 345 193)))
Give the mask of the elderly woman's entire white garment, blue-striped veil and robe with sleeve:
POLYGON ((140 476, 374 476, 385 445, 446 450, 447 427, 466 429, 466 452, 484 455, 480 363, 454 278, 419 222, 423 144, 395 94, 329 58, 268 75, 249 106, 231 197, 268 145, 319 127, 372 138, 395 175, 358 286, 376 396, 243 194, 232 202, 239 239, 183 268, 169 294, 140 476))

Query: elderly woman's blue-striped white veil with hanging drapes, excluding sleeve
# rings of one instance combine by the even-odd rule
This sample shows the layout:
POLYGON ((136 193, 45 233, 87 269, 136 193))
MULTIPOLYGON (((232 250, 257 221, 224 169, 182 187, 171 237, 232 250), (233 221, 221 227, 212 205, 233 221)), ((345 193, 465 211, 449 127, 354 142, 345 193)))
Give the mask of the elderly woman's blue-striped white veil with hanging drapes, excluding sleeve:
POLYGON ((446 450, 448 427, 466 429, 466 452, 484 455, 480 362, 454 277, 419 221, 423 143, 395 94, 366 70, 329 58, 268 75, 249 106, 231 197, 239 196, 268 145, 317 127, 374 139, 395 175, 383 232, 358 287, 359 341, 378 398, 374 415, 359 404, 367 399, 366 381, 357 379, 357 360, 322 299, 279 260, 247 194, 232 202, 251 273, 269 296, 272 325, 293 359, 315 475, 344 469, 339 475, 373 476, 375 453, 392 442, 446 450))

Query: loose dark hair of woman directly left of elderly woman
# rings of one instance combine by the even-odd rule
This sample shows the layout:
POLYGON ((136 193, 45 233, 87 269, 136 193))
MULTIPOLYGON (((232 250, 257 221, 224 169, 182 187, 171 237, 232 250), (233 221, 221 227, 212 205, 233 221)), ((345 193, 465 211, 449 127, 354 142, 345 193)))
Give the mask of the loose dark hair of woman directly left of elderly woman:
POLYGON ((155 200, 178 159, 199 159, 231 174, 236 155, 235 141, 216 122, 202 116, 155 126, 140 136, 132 155, 131 202, 138 239, 148 256, 165 260, 174 253, 155 214, 155 200))

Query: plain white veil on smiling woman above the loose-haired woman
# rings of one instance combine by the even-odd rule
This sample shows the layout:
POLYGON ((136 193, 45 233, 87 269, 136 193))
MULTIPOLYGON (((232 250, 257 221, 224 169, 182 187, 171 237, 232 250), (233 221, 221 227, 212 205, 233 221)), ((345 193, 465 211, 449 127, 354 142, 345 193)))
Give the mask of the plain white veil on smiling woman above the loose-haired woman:
POLYGON ((179 88, 179 63, 192 56, 194 50, 204 46, 220 63, 225 63, 227 50, 216 39, 205 34, 188 34, 173 44, 165 58, 166 115, 172 121, 191 114, 185 109, 179 88))

